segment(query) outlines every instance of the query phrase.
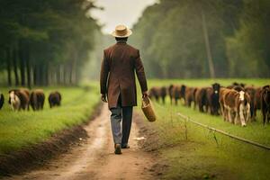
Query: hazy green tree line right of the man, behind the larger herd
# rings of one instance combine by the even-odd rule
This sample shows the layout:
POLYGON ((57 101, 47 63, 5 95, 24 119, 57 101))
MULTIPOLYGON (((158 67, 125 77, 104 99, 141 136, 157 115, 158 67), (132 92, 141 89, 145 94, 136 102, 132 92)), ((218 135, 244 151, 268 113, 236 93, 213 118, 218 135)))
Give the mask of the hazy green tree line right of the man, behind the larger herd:
POLYGON ((148 77, 269 77, 270 1, 160 0, 133 28, 148 77))

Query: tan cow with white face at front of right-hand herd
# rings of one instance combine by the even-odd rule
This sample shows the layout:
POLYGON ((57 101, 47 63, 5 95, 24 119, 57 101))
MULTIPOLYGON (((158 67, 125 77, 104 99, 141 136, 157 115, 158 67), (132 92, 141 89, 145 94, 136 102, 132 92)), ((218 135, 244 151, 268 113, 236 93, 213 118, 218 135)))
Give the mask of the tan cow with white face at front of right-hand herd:
POLYGON ((240 124, 242 127, 247 126, 250 117, 250 97, 244 91, 236 91, 231 89, 223 93, 224 108, 227 111, 227 120, 229 122, 240 124))

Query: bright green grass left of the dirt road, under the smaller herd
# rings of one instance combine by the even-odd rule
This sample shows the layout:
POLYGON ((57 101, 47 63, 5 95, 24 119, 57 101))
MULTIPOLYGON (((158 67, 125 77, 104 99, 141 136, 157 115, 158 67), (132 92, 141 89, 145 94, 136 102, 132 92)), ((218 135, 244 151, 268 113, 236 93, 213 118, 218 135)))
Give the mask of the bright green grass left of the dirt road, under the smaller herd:
POLYGON ((99 102, 97 85, 88 92, 81 87, 45 87, 46 101, 40 112, 13 112, 7 103, 7 88, 0 90, 5 103, 0 111, 0 155, 49 139, 52 134, 87 121, 99 102), (62 105, 49 109, 50 91, 62 94, 62 105))

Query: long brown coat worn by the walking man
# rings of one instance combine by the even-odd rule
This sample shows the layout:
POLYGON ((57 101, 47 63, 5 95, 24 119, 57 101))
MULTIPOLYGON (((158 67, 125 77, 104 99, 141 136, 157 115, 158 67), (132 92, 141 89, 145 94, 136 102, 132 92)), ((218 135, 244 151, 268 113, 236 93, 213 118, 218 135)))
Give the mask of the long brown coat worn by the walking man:
POLYGON ((141 92, 148 90, 147 80, 139 50, 124 41, 104 49, 100 74, 101 94, 107 94, 109 108, 116 107, 121 94, 122 106, 136 106, 136 71, 141 92))

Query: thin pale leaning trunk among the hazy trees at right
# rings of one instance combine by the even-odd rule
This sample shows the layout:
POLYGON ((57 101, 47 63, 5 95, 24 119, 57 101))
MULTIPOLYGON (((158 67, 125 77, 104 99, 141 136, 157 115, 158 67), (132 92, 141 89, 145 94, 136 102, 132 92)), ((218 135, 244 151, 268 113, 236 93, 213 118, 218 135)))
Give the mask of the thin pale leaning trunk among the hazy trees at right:
POLYGON ((215 70, 211 58, 211 47, 209 43, 209 34, 207 30, 207 24, 205 20, 205 14, 202 11, 202 31, 203 31, 203 36, 204 36, 204 43, 205 43, 205 49, 206 49, 206 54, 207 54, 207 59, 208 59, 208 66, 210 70, 210 76, 211 78, 215 77, 215 70))

